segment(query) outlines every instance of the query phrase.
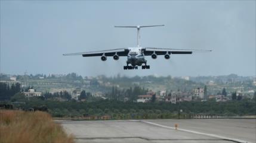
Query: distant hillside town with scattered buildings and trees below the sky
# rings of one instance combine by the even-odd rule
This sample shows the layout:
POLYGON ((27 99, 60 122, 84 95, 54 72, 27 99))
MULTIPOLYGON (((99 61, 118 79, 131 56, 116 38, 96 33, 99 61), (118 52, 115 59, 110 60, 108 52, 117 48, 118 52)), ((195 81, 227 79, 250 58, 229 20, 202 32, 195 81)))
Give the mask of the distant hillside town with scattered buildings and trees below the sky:
MULTIPOLYGON (((235 74, 207 77, 82 77, 76 73, 25 73, 0 74, 0 84, 1 92, 4 92, 3 88, 8 90, 19 86, 18 93, 26 98, 40 97, 57 101, 112 99, 141 103, 162 101, 175 104, 183 101, 252 100, 256 78, 235 74)), ((10 98, 1 96, 0 100, 10 98)))

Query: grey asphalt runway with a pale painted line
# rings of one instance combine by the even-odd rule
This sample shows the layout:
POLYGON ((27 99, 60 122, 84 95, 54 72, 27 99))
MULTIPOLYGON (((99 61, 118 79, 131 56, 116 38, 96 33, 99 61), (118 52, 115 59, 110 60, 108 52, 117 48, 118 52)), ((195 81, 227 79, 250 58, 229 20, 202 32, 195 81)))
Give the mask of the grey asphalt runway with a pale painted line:
POLYGON ((256 142, 256 119, 56 122, 67 134, 73 134, 76 142, 256 142))

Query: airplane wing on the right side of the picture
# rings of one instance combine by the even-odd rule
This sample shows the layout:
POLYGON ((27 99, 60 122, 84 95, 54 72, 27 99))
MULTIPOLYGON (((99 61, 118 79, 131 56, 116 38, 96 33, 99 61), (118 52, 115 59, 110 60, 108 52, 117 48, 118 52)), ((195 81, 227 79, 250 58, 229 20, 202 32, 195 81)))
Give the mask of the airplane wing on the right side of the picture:
POLYGON ((190 50, 190 49, 169 49, 169 48, 160 48, 160 47, 145 47, 143 53, 145 56, 150 56, 153 53, 156 55, 165 55, 168 54, 192 54, 193 52, 211 52, 211 50, 190 50))

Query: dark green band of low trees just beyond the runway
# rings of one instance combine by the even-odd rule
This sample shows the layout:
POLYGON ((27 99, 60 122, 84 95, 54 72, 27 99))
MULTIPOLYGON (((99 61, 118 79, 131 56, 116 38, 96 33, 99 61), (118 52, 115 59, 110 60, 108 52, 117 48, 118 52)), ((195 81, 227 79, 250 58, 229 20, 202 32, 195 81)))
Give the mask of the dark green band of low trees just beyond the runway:
POLYGON ((173 119, 181 109, 181 117, 194 114, 218 116, 256 115, 255 100, 241 101, 190 101, 171 103, 133 103, 117 100, 100 100, 94 102, 33 100, 20 105, 26 109, 35 106, 47 106, 55 117, 110 116, 111 119, 173 119))

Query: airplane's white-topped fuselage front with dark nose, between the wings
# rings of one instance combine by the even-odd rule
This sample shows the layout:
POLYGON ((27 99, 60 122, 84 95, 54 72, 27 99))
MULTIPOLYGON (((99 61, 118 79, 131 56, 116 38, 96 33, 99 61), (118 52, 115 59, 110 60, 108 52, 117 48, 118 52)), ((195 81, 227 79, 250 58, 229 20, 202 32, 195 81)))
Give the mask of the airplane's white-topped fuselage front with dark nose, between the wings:
POLYGON ((129 53, 127 55, 127 65, 141 66, 142 63, 147 63, 142 52, 142 47, 129 47, 129 53))

